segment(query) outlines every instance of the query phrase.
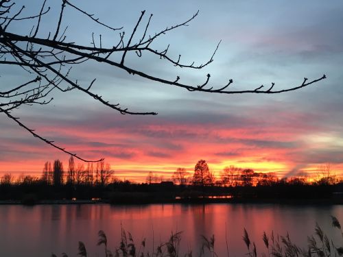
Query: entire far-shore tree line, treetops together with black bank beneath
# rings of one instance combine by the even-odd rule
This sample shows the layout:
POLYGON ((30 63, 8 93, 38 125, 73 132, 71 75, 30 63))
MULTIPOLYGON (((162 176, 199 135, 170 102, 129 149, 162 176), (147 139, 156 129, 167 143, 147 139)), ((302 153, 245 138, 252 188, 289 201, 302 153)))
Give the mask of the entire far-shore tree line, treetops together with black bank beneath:
POLYGON ((113 204, 144 204, 176 201, 247 201, 251 199, 336 199, 343 192, 343 182, 331 174, 329 165, 318 167, 315 180, 305 175, 278 178, 276 173, 258 173, 252 169, 225 167, 220 175, 209 169, 205 160, 199 160, 193 171, 178 168, 164 179, 149 172, 145 182, 130 182, 115 177, 110 164, 78 164, 73 157, 64 167, 60 160, 45 162, 40 178, 10 173, 1 177, 0 200, 35 204, 40 201, 68 199, 74 201, 101 200, 113 204), (223 198, 224 197, 224 198, 223 198), (213 201, 213 199, 210 199, 213 201))

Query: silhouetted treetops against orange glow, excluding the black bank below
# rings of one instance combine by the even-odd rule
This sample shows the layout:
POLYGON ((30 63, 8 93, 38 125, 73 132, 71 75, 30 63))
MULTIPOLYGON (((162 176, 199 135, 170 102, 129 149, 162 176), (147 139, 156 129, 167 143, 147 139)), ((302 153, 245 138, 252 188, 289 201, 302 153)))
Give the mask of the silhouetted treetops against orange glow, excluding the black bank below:
MULTIPOLYGON (((104 160, 100 162, 88 162, 86 166, 83 163, 76 163, 73 156, 68 160, 67 169, 60 160, 54 162, 45 162, 43 172, 40 178, 32 175, 19 175, 17 179, 11 173, 5 173, 1 177, 1 184, 32 184, 32 182, 43 182, 51 186, 70 185, 88 185, 88 186, 106 186, 110 182, 119 181, 114 176, 115 171, 111 169, 110 164, 104 160)), ((259 173, 253 169, 241 169, 230 165, 225 167, 219 176, 215 176, 209 169, 206 160, 199 160, 193 170, 193 174, 185 168, 177 168, 171 178, 158 176, 150 171, 146 178, 146 184, 158 184, 163 181, 173 182, 180 186, 272 186, 273 184, 336 184, 341 182, 333 173, 329 164, 320 165, 316 176, 310 178, 304 173, 292 178, 279 178, 276 173, 259 173)), ((132 182, 130 182, 132 183, 132 182)))

